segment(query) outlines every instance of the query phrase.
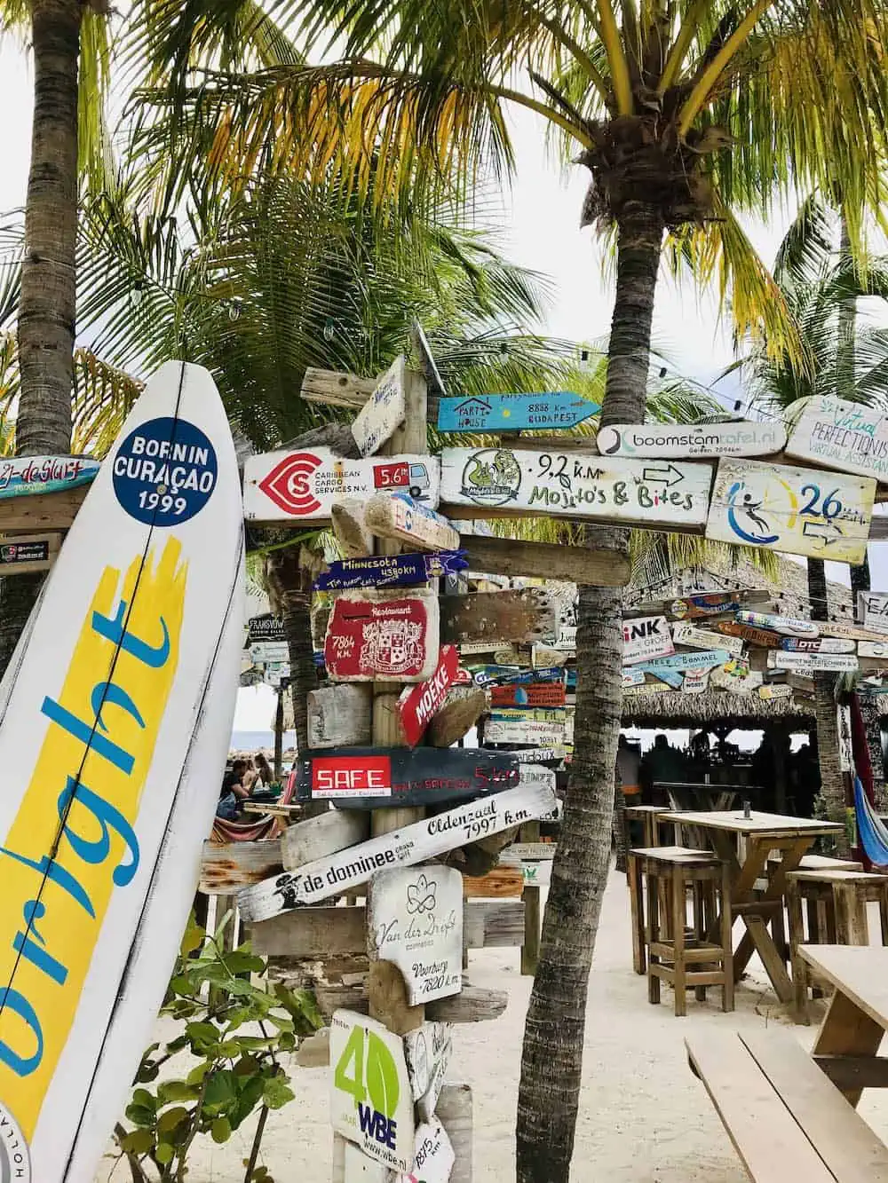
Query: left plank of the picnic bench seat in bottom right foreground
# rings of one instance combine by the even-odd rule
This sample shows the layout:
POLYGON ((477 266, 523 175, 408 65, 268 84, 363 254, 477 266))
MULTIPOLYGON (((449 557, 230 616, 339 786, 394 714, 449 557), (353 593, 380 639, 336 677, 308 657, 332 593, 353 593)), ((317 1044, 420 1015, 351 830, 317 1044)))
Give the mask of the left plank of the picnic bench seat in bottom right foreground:
POLYGON ((836 1183, 733 1032, 707 1032, 684 1046, 751 1179, 836 1183))

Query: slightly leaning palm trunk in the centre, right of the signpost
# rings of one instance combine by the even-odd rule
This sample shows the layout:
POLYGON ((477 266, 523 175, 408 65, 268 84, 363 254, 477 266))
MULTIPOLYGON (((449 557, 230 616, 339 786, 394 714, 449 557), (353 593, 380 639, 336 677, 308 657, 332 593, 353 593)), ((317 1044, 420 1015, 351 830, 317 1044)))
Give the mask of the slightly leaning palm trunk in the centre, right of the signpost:
MULTIPOLYGON (((663 221, 626 208, 618 225, 617 292, 601 422, 644 418, 663 221)), ((587 541, 628 552, 622 529, 587 541)), ((517 1107, 517 1183, 567 1183, 583 1067, 586 993, 607 879, 613 777, 623 705, 623 593, 580 587, 574 756, 525 1027, 517 1107)))

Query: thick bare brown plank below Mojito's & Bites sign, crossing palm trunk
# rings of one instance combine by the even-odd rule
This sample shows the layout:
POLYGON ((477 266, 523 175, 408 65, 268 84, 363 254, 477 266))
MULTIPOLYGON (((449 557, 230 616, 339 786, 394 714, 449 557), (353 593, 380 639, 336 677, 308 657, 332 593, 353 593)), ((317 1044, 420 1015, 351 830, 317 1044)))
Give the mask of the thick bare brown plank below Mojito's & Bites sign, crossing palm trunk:
POLYGON ((631 564, 619 551, 601 548, 556 545, 548 542, 522 542, 517 538, 491 538, 464 534, 459 545, 472 571, 540 580, 565 580, 568 583, 594 583, 617 588, 629 583, 631 564))

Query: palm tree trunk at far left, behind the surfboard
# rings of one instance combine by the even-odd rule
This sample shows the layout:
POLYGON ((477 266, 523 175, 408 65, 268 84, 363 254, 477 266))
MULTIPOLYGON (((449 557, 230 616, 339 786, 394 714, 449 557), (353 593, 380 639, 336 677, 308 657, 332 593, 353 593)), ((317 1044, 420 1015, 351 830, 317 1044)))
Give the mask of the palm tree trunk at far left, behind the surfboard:
MULTIPOLYGON (((18 325, 19 455, 64 455, 71 448, 82 19, 81 0, 31 0, 34 115, 18 325)), ((18 575, 0 584, 0 671, 12 657, 43 580, 43 575, 18 575)))

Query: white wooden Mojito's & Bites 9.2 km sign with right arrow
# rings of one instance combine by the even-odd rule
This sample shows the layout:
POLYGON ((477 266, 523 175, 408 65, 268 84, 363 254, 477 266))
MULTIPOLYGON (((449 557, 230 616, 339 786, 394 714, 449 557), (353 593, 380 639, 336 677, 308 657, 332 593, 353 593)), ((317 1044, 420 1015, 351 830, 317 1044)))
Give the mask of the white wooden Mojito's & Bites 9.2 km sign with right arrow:
POLYGON ((444 448, 442 500, 461 517, 510 512, 638 523, 706 522, 712 468, 684 461, 604 459, 593 452, 444 448))

